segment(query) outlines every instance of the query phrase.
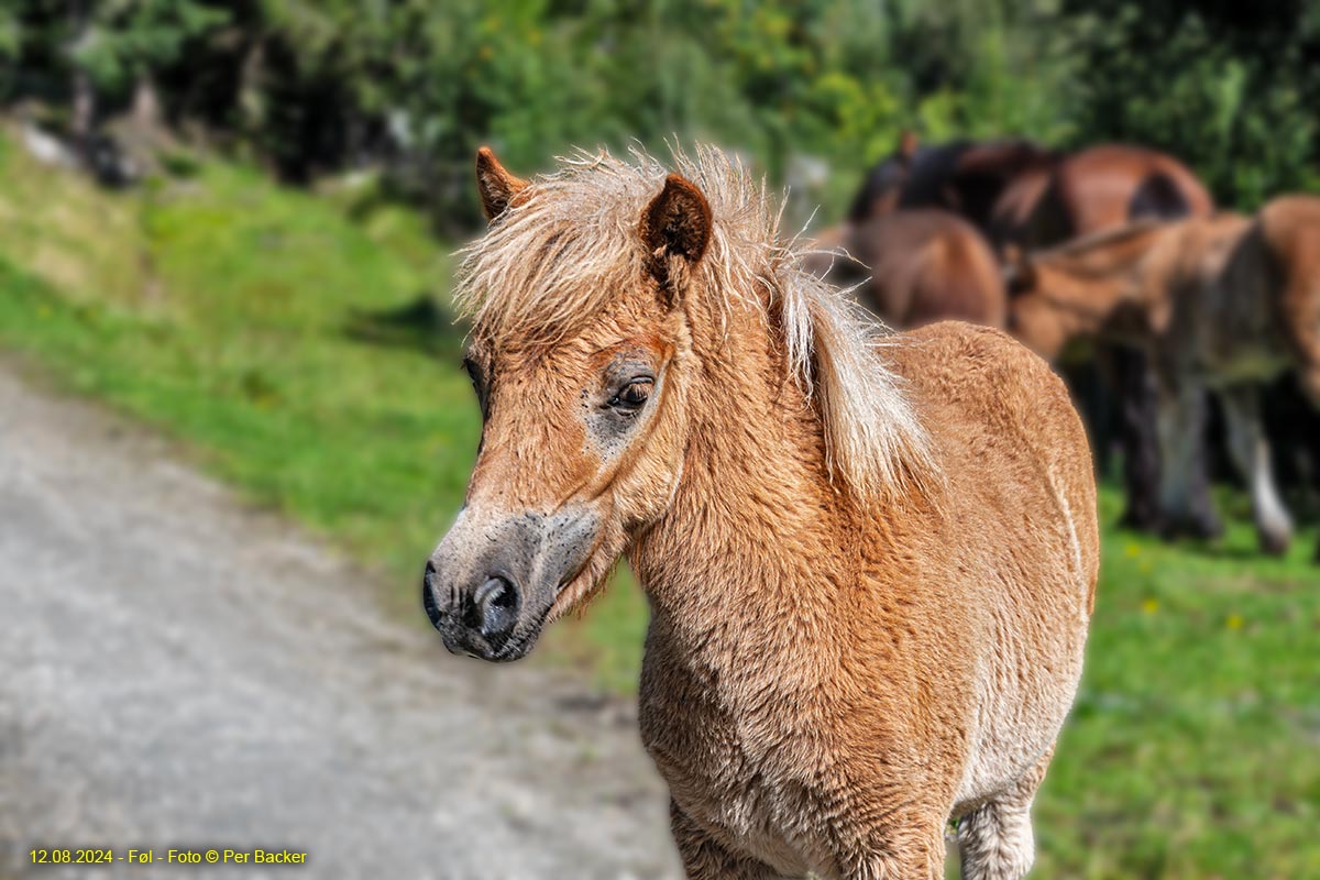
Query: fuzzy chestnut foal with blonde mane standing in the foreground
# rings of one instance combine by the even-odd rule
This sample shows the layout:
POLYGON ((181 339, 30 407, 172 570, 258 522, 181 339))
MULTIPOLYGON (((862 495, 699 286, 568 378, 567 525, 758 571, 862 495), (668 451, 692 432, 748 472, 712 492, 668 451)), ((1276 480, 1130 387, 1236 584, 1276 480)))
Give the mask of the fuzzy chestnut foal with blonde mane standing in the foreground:
POLYGON ((1068 396, 993 330, 874 338, 741 168, 677 162, 527 183, 479 158, 494 220, 461 302, 487 424, 433 620, 519 656, 626 553, 652 610, 642 731, 689 876, 942 877, 961 818, 964 876, 1019 877, 1098 566, 1068 396), (469 584, 524 577, 473 559, 569 516, 579 550, 527 538, 515 648, 470 635, 506 624, 469 584))

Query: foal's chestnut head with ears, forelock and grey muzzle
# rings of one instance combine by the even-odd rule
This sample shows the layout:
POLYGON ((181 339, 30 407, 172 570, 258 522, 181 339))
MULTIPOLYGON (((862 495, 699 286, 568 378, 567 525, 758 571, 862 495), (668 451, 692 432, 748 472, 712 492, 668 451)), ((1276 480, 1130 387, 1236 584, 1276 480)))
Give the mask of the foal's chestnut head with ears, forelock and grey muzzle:
POLYGON ((491 228, 467 252, 459 298, 475 318, 466 368, 484 425, 424 584, 450 650, 525 654, 677 486, 686 412, 675 361, 688 340, 676 305, 710 241, 710 207, 676 174, 649 191, 601 174, 594 193, 528 183, 478 156, 491 228))

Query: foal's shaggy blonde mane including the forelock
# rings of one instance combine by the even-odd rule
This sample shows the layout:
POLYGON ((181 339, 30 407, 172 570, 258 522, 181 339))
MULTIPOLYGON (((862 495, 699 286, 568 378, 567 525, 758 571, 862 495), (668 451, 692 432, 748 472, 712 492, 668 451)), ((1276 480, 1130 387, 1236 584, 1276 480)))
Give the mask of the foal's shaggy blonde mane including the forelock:
MULTIPOLYGON (((887 331, 803 268, 808 251, 780 237, 781 204, 764 179, 708 146, 696 157, 676 153, 673 164, 714 216, 689 290, 700 288, 721 315, 755 309, 768 332, 781 334, 788 369, 824 426, 834 479, 863 499, 927 486, 937 472, 928 435, 876 356, 887 331)), ((462 251, 462 317, 496 344, 553 344, 572 334, 647 272, 639 224, 665 174, 639 149, 631 161, 606 152, 560 160, 558 172, 535 178, 528 197, 462 251)))

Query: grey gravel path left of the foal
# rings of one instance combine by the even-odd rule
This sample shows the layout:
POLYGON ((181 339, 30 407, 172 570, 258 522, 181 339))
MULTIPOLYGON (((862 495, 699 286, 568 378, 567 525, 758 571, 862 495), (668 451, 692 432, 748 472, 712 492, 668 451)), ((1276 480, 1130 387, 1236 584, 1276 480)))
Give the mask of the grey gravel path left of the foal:
POLYGON ((677 875, 631 710, 451 658, 177 460, 0 369, 0 877, 677 875), (309 864, 161 864, 256 846, 309 864))

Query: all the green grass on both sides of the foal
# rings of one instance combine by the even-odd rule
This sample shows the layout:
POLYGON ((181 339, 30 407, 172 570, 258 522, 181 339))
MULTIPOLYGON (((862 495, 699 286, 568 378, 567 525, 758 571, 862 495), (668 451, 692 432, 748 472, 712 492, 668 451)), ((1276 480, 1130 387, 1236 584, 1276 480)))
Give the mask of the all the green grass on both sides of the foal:
MULTIPOLYGON (((0 139, 0 347, 383 571, 381 600, 422 625, 417 569, 478 414, 445 248, 364 194, 202 162, 115 195, 0 139)), ((1038 803, 1035 876, 1320 877, 1315 530, 1262 559, 1245 500, 1221 501, 1222 541, 1166 546, 1115 530, 1102 493, 1088 672, 1038 803)), ((626 691, 644 628, 624 582, 546 650, 626 691)))

